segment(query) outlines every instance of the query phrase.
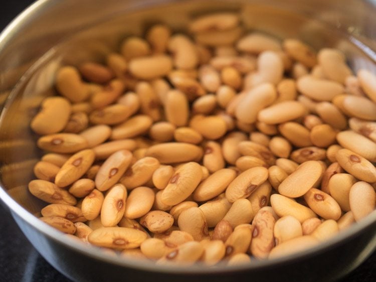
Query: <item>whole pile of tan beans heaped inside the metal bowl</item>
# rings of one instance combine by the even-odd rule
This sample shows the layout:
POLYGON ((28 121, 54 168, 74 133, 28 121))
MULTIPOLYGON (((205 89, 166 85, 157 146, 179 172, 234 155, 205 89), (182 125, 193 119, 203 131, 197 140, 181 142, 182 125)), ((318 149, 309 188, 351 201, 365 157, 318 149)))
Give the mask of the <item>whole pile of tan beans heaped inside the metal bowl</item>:
POLYGON ((62 66, 31 128, 40 218, 117 255, 234 265, 317 245, 375 209, 376 76, 239 16, 154 25, 62 66))

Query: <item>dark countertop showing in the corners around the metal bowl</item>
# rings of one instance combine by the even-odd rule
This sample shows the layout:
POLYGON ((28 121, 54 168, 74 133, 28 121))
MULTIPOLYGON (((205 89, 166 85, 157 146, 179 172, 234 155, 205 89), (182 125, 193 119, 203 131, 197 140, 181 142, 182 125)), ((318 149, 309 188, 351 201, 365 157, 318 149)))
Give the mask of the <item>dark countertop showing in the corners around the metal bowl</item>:
MULTIPOLYGON (((2 3, 0 30, 31 4, 31 0, 2 3)), ((339 282, 376 281, 376 252, 339 282)), ((30 244, 10 213, 0 204, 0 282, 69 282, 30 244)))

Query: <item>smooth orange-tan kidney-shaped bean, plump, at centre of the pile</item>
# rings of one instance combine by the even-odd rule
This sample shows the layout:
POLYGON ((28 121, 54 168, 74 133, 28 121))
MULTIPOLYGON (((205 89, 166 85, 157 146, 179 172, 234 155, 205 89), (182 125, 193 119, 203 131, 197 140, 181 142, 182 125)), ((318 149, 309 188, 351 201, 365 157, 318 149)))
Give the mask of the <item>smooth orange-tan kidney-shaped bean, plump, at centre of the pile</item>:
POLYGON ((195 115, 190 120, 190 127, 210 140, 221 138, 227 131, 226 122, 217 115, 195 115))

